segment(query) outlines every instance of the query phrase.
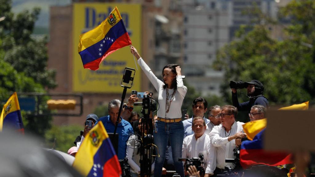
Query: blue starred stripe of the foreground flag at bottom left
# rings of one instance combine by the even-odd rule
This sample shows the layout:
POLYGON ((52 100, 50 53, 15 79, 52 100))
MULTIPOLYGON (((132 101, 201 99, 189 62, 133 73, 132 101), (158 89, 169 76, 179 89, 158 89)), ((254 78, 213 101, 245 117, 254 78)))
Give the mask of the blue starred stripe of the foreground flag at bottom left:
POLYGON ((94 155, 93 158, 94 164, 88 176, 91 177, 103 176, 104 164, 115 155, 116 155, 115 150, 112 146, 110 139, 106 138, 105 140, 103 140, 102 145, 94 155))

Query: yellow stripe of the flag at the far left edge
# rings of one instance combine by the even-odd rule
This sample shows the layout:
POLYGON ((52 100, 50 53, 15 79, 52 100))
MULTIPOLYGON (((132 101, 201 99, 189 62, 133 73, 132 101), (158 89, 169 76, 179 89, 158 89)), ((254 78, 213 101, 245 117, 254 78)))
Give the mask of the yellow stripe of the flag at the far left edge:
POLYGON ((0 131, 2 131, 3 128, 3 120, 4 118, 11 112, 18 111, 20 110, 20 105, 19 105, 19 100, 18 100, 18 95, 16 92, 14 92, 9 100, 3 105, 3 109, 1 112, 1 117, 0 117, 0 131))

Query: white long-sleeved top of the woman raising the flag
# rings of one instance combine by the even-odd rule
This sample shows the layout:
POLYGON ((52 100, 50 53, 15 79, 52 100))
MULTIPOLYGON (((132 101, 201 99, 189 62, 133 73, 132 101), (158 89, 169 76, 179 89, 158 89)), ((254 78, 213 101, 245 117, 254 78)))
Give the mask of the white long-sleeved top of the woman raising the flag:
MULTIPOLYGON (((165 106, 166 106, 166 89, 167 88, 163 89, 164 83, 153 74, 152 70, 142 60, 142 58, 138 60, 138 64, 140 65, 141 69, 149 78, 154 88, 158 92, 158 103, 160 107, 157 110, 157 117, 167 118, 167 119, 181 118, 180 108, 181 108, 181 105, 183 104, 184 97, 187 93, 187 87, 184 86, 183 78, 181 76, 176 76, 177 90, 175 92, 174 99, 171 102, 171 105, 169 107, 169 112, 166 113, 165 106), (166 113, 166 117, 165 117, 165 113, 166 113)), ((172 99, 171 95, 173 94, 174 89, 168 89, 168 90, 169 90, 169 100, 171 100, 172 99)))

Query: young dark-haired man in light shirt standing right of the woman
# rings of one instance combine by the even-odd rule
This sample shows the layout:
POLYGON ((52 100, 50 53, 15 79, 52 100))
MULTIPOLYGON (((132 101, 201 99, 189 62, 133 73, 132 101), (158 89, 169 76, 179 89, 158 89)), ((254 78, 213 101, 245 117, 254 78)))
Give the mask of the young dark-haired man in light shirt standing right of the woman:
POLYGON ((194 134, 194 131, 192 130, 192 120, 194 119, 194 117, 203 117, 205 123, 209 122, 209 119, 204 117, 204 113, 207 112, 207 107, 208 102, 202 97, 195 98, 192 101, 192 118, 183 121, 185 131, 184 137, 194 134))

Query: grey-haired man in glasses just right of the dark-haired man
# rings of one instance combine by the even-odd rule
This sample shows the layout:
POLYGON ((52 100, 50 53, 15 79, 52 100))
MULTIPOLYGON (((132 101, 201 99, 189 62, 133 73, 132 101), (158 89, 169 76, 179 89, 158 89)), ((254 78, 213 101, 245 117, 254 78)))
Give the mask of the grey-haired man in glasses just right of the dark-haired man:
POLYGON ((219 114, 221 112, 221 107, 219 105, 211 106, 208 110, 208 119, 209 122, 206 124, 207 128, 205 134, 210 134, 214 126, 220 125, 221 120, 219 114))

